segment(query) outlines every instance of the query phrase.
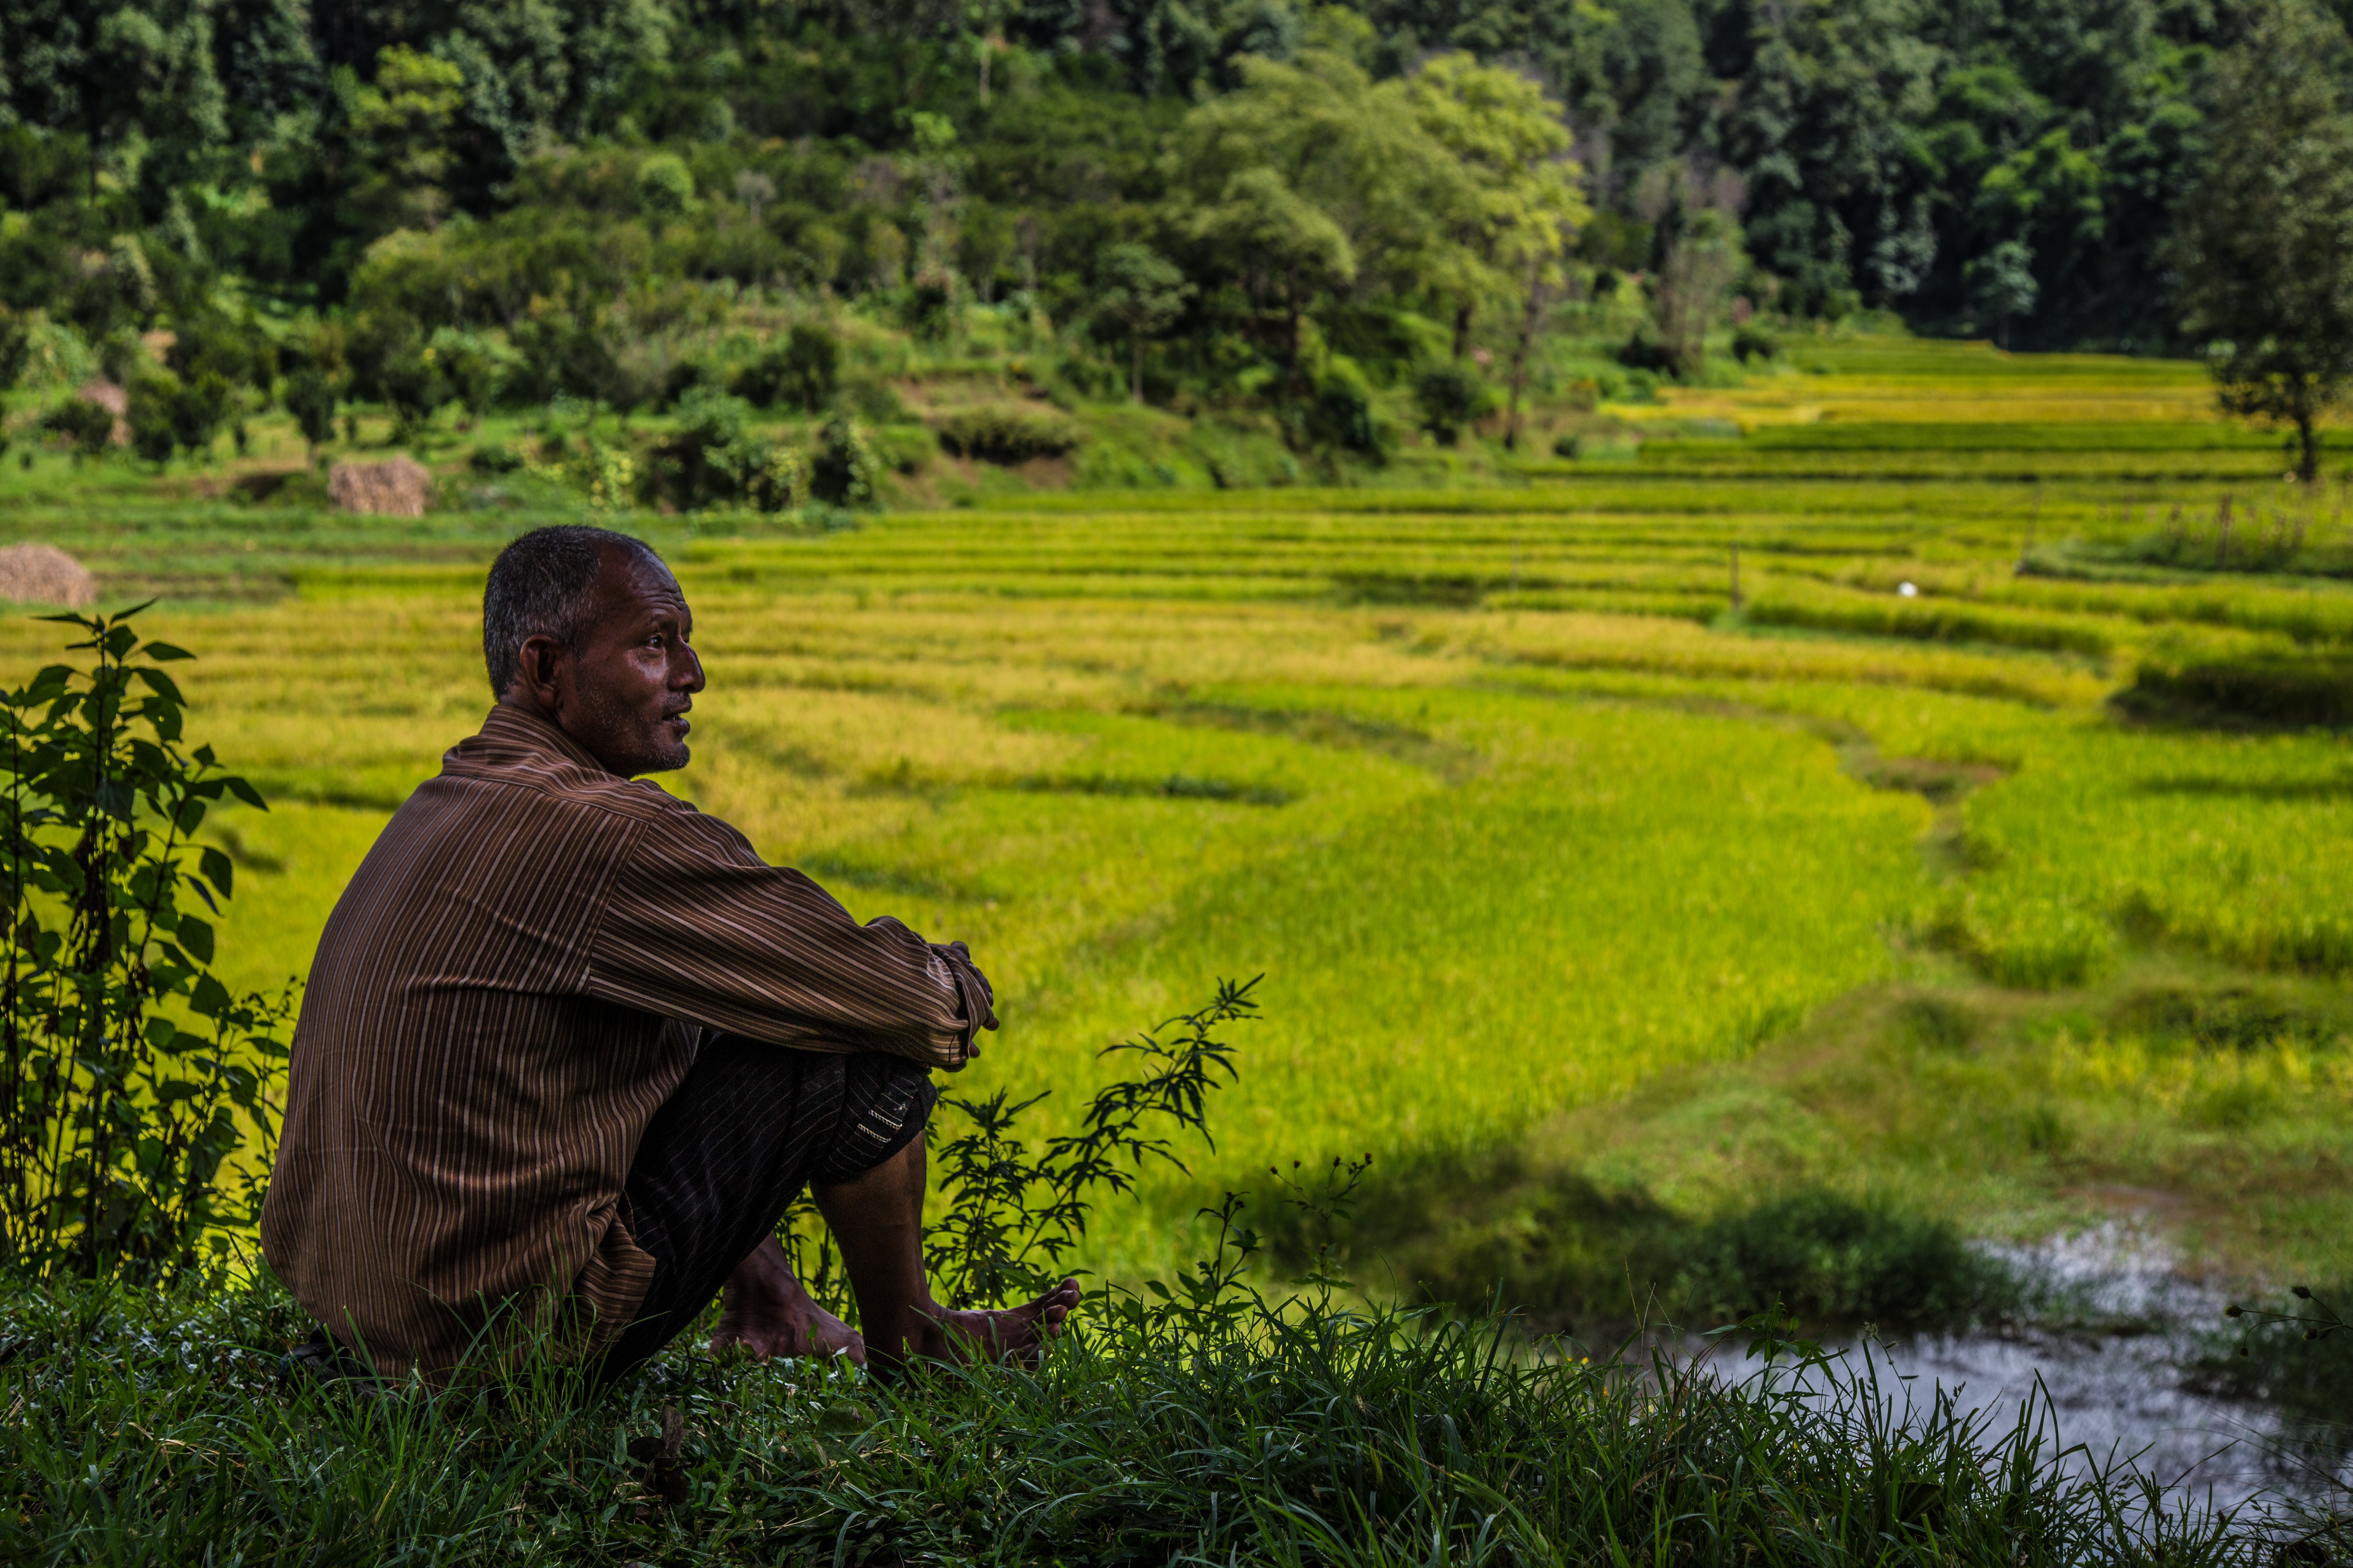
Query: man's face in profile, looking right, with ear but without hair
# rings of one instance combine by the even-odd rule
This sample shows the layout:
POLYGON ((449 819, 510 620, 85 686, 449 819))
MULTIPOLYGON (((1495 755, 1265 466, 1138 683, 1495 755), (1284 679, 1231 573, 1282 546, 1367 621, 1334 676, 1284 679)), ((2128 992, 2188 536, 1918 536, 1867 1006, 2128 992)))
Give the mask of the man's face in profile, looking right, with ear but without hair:
POLYGON ((605 550, 588 628, 569 656, 525 661, 553 675, 555 722, 624 778, 687 766, 687 710, 704 689, 689 637, 694 611, 671 571, 635 550, 605 550))

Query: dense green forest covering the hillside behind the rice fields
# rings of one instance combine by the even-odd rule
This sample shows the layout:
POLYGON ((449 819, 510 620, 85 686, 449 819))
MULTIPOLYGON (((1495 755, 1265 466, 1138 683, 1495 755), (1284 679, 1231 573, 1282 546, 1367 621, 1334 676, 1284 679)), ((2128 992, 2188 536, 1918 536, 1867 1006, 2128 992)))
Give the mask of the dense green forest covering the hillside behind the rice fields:
POLYGON ((1372 449, 1367 386, 1419 376, 1449 440, 1518 400, 1562 303, 1626 303, 1619 360, 1668 376, 1711 327, 1871 310, 2179 348, 2179 193, 2247 26, 2209 0, 0 0, 0 374, 127 383, 148 456, 280 397, 313 440, 341 397, 814 411, 838 324, 784 327, 819 301, 1372 449))

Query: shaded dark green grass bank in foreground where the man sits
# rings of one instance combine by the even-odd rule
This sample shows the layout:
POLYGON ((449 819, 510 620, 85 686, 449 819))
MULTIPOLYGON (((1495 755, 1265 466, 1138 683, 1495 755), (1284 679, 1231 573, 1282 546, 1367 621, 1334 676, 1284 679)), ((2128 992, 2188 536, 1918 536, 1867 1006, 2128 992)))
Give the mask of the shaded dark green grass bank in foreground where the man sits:
MULTIPOLYGON (((1209 1262, 1209 1260, 1205 1260, 1209 1262)), ((1214 1265, 1212 1265, 1214 1267, 1214 1265)), ((1868 1349, 1739 1373, 1515 1352, 1508 1324, 1226 1291, 1125 1300, 1038 1373, 673 1349, 605 1401, 525 1366, 466 1396, 282 1385, 268 1286, 12 1302, 12 1563, 1918 1563, 2257 1568, 2014 1415, 1868 1349), (638 1455, 668 1453, 647 1462, 638 1455), (661 1469, 656 1469, 661 1465, 661 1469)), ((2315 1559, 2325 1561, 2325 1559, 2315 1559)))

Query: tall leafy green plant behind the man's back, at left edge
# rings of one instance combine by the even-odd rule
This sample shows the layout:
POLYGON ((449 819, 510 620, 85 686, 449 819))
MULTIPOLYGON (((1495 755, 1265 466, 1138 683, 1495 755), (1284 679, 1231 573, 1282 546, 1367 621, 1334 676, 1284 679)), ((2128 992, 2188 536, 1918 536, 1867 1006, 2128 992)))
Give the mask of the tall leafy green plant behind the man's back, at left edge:
POLYGON ((68 644, 87 668, 0 693, 0 1262, 28 1274, 219 1258, 275 1143, 289 1004, 214 978, 233 863, 193 842, 214 802, 261 795, 184 748, 162 665, 191 654, 141 642, 132 614, 45 616, 87 632, 68 644), (233 1171, 249 1140, 264 1159, 233 1171))

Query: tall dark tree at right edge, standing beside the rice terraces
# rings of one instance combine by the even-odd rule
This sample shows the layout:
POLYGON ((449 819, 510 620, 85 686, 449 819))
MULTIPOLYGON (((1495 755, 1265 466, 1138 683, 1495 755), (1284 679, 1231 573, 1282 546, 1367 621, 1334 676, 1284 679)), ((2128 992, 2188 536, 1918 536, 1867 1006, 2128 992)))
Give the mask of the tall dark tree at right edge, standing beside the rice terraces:
POLYGON ((2353 115, 2344 26, 2271 0, 2224 61, 2207 165, 2184 200, 2181 306, 2221 407, 2292 425, 2320 473, 2320 416, 2353 386, 2353 115))

